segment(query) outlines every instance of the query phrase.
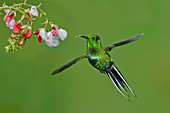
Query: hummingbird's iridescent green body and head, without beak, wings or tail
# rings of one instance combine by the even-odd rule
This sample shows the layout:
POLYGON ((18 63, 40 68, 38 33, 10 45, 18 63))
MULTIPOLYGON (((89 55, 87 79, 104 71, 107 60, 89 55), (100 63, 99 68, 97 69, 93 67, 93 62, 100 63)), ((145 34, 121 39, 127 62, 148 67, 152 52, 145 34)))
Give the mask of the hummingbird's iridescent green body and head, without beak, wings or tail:
POLYGON ((102 48, 101 40, 97 35, 88 35, 87 56, 90 64, 101 73, 106 73, 112 65, 112 59, 102 48))

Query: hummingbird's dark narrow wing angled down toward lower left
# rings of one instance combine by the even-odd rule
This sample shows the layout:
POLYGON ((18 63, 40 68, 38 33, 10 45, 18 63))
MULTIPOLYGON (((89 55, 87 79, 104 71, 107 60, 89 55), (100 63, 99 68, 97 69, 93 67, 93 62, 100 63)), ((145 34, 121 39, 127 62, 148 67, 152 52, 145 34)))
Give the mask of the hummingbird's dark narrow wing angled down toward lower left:
POLYGON ((51 75, 57 74, 57 73, 65 70, 65 69, 67 69, 68 67, 72 66, 72 65, 75 64, 76 62, 78 62, 78 61, 80 61, 81 59, 86 58, 86 57, 87 57, 87 55, 83 55, 83 56, 80 56, 80 57, 74 59, 73 61, 71 61, 71 62, 69 62, 69 63, 61 66, 60 68, 56 69, 55 71, 53 71, 53 72, 51 73, 51 75))

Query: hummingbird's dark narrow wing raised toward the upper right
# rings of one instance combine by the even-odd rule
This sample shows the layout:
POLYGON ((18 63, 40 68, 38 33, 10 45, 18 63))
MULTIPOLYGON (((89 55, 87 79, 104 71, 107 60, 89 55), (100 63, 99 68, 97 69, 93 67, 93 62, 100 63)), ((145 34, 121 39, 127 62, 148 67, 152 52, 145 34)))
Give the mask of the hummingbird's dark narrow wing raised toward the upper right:
POLYGON ((125 44, 128 44, 128 43, 130 43, 130 42, 133 42, 133 41, 139 39, 141 36, 143 36, 143 34, 144 34, 144 33, 141 33, 141 34, 136 35, 136 36, 134 36, 134 37, 132 37, 132 38, 130 38, 130 39, 123 40, 123 41, 121 41, 121 42, 115 43, 115 44, 113 44, 113 45, 111 45, 111 46, 108 46, 108 47, 104 48, 104 50, 105 50, 105 51, 111 51, 114 47, 121 46, 121 45, 125 45, 125 44))

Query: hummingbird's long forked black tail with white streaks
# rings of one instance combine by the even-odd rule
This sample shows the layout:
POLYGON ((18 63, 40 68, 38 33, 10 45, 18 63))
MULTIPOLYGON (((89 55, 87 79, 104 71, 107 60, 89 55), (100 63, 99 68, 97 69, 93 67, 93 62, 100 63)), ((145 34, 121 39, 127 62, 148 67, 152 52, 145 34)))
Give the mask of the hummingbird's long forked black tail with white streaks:
POLYGON ((127 93, 127 90, 125 89, 125 87, 127 87, 131 93, 136 97, 135 93, 133 92, 133 90, 130 88, 130 86, 128 85, 128 83, 126 82, 126 80, 124 79, 123 75, 120 73, 120 71, 116 68, 115 65, 112 66, 112 68, 107 72, 107 75, 109 76, 109 78, 112 80, 113 84, 116 86, 116 88, 119 90, 119 92, 126 98, 129 100, 128 97, 129 94, 127 93), (125 94, 122 92, 125 92, 125 94), (128 97, 127 97, 127 96, 128 97))

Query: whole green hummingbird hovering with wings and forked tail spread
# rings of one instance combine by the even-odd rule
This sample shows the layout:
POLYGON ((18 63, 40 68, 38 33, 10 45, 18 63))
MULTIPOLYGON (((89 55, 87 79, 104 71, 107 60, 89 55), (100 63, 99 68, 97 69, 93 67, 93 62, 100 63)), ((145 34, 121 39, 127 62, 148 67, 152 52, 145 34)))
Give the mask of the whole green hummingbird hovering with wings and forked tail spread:
POLYGON ((128 83, 126 82, 123 75, 120 73, 120 71, 117 69, 117 67, 113 63, 113 60, 112 60, 111 56, 109 55, 109 52, 115 47, 130 43, 130 42, 133 42, 133 41, 139 39, 141 36, 143 36, 143 34, 144 33, 141 33, 139 35, 134 36, 133 38, 115 43, 115 44, 105 47, 105 48, 102 47, 101 40, 98 35, 95 35, 95 34, 90 34, 88 36, 79 35, 80 37, 86 39, 86 43, 87 43, 86 54, 83 56, 80 56, 80 57, 74 59, 73 61, 65 64, 64 66, 61 66, 60 68, 56 69, 55 71, 53 71, 52 75, 57 74, 65 69, 67 69, 68 67, 72 66, 73 64, 77 63, 78 61, 80 61, 84 58, 88 58, 88 61, 90 62, 90 64, 93 67, 97 68, 101 73, 107 74, 108 77, 111 79, 111 81, 116 86, 116 88, 119 90, 119 92, 125 98, 127 98, 129 100, 128 97, 130 97, 130 96, 127 93, 127 90, 125 89, 125 87, 128 88, 134 96, 136 96, 136 95, 133 92, 133 90, 130 88, 128 83))

